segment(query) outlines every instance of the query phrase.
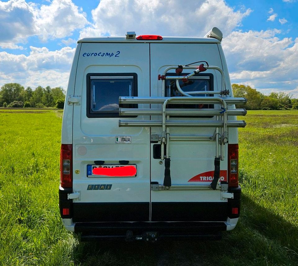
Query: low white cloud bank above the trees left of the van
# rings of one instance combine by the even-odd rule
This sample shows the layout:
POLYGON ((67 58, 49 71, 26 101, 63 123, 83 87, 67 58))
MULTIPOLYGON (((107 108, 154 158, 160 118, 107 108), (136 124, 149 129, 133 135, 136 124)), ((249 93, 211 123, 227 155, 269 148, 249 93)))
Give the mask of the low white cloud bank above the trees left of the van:
POLYGON ((46 47, 30 46, 28 56, 0 53, 0 84, 16 82, 25 87, 62 86, 66 88, 74 48, 49 51, 46 47))

